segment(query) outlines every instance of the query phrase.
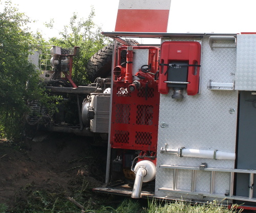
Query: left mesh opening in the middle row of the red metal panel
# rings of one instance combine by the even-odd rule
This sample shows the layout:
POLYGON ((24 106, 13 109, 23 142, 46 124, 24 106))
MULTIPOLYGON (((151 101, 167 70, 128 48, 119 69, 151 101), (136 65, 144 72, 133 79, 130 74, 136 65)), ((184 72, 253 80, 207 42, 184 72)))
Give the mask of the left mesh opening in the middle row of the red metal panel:
POLYGON ((117 104, 115 122, 118 124, 130 124, 130 111, 130 104, 117 104))

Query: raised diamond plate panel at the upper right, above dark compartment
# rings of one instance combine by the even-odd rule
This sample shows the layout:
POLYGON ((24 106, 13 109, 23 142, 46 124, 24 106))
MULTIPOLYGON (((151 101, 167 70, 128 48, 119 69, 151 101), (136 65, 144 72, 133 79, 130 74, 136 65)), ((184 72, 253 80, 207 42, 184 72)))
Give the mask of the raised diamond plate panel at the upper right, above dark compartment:
POLYGON ((256 35, 237 37, 237 90, 256 90, 256 35))

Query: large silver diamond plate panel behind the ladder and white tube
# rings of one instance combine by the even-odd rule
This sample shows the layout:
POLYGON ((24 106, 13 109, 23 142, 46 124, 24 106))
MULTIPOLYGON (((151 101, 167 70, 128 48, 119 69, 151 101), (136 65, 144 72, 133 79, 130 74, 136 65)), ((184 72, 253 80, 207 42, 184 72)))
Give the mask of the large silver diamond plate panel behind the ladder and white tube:
MULTIPOLYGON (((212 168, 234 168, 234 160, 214 160, 194 157, 178 157, 174 154, 160 154, 161 147, 168 144, 170 149, 185 147, 187 149, 219 150, 235 153, 238 91, 235 90, 208 90, 209 80, 219 83, 231 83, 236 75, 235 49, 210 49, 208 36, 202 38, 200 93, 196 96, 187 96, 183 91, 182 100, 172 99, 173 90, 160 96, 159 133, 158 133, 158 160, 156 177, 156 194, 180 198, 182 194, 176 192, 158 191, 160 187, 169 187, 173 184, 173 170, 159 168, 161 164, 170 164, 185 167, 199 167, 207 163, 212 168), (234 113, 230 114, 229 109, 234 113), (164 122, 165 128, 160 124, 164 122), (168 177, 168 178, 166 178, 168 177)), ((191 38, 177 38, 172 40, 193 41, 191 38)), ((191 172, 191 171, 190 171, 191 172)), ((229 188, 229 173, 215 175, 214 193, 224 194, 229 188)), ((178 188, 191 190, 191 174, 178 173, 178 188)), ((196 192, 209 193, 210 173, 197 171, 196 192)), ((183 195, 184 197, 184 195, 183 195)), ((196 195, 186 195, 186 198, 197 198, 196 195)), ((206 198, 207 199, 207 198, 206 198)), ((210 200, 210 199, 209 199, 210 200)))

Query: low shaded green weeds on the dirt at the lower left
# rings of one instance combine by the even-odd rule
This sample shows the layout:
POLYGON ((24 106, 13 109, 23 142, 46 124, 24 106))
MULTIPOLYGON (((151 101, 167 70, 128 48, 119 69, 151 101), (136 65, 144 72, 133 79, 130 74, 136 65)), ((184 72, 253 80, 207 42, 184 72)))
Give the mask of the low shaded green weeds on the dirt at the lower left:
MULTIPOLYGON (((20 194, 23 194, 23 197, 17 197, 16 205, 9 210, 16 213, 80 212, 82 206, 85 212, 109 212, 101 211, 104 208, 101 207, 101 204, 103 202, 111 202, 111 196, 101 197, 93 193, 92 185, 86 178, 78 176, 76 181, 72 181, 70 184, 77 186, 72 192, 72 198, 67 196, 67 192, 63 191, 63 188, 58 185, 56 185, 56 189, 53 192, 45 189, 36 189, 33 183, 28 184, 20 192, 20 194), (71 200, 80 205, 78 206, 71 200)), ((111 207, 106 208, 110 209, 111 207)))

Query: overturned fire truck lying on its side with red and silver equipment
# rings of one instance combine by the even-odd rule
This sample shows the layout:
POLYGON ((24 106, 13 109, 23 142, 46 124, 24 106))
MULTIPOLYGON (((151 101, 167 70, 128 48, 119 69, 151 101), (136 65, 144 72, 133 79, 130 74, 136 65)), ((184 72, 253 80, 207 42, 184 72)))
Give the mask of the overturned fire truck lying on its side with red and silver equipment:
MULTIPOLYGON (((77 98, 76 131, 108 137, 106 182, 94 191, 256 206, 256 33, 116 26, 103 33, 115 41, 110 78, 103 72, 90 86, 48 86, 88 96, 77 98), (125 43, 143 37, 161 44, 125 43)), ((65 68, 56 57, 65 54, 54 54, 65 68)))

